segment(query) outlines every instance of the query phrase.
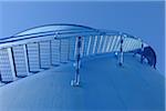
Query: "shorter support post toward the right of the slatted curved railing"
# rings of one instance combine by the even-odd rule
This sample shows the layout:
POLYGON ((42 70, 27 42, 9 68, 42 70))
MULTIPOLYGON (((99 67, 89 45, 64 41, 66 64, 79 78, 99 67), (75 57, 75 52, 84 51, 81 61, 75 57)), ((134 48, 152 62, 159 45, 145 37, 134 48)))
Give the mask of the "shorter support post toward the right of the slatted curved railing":
POLYGON ((120 41, 120 61, 118 61, 118 64, 120 65, 123 65, 123 42, 124 42, 124 39, 123 39, 123 36, 121 36, 121 41, 120 41))

